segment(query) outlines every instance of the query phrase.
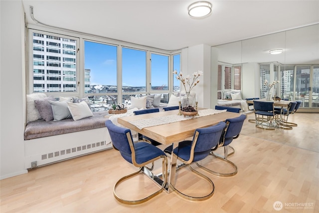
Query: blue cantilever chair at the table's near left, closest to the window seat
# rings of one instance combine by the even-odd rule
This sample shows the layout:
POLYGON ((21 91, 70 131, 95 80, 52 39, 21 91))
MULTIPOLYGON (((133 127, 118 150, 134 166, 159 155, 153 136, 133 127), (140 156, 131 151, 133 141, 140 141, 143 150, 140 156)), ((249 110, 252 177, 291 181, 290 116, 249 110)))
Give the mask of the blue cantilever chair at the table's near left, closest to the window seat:
MULTIPOLYGON (((123 178, 121 178, 120 180, 118 180, 116 182, 116 184, 114 185, 114 189, 113 189, 114 197, 119 202, 124 203, 124 204, 141 204, 141 203, 144 203, 144 202, 150 200, 151 198, 154 198, 156 195, 160 194, 163 191, 163 189, 167 183, 167 156, 166 156, 166 154, 162 150, 157 148, 156 146, 149 144, 147 142, 133 143, 133 138, 132 138, 130 129, 116 126, 110 120, 107 120, 105 122, 105 126, 107 127, 107 129, 110 133, 113 147, 116 150, 120 151, 121 156, 127 162, 129 162, 130 164, 133 164, 136 167, 140 167, 140 169, 137 172, 134 172, 134 173, 131 173, 127 176, 124 176, 123 178), (147 168, 146 165, 148 165, 150 163, 154 163, 155 161, 157 161, 159 159, 162 159, 162 179, 163 180, 159 181, 159 178, 155 179, 154 178, 155 176, 153 174, 152 174, 152 177, 157 182, 160 182, 160 185, 161 185, 160 190, 156 191, 155 193, 153 193, 145 198, 142 198, 140 200, 133 200, 133 201, 122 199, 117 195, 116 189, 121 182, 124 182, 125 180, 127 180, 135 175, 138 175, 140 172, 145 174, 143 172, 143 170, 145 170, 145 168, 147 168)), ((145 183, 141 183, 142 188, 145 188, 144 185, 145 185, 145 183)))

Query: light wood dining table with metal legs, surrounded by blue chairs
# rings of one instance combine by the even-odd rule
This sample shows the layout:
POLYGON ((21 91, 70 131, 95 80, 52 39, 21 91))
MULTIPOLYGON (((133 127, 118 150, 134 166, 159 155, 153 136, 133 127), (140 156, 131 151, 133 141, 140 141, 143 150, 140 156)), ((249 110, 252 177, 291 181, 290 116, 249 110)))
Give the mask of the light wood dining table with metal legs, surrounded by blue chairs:
MULTIPOLYGON (((137 121, 141 119, 148 118, 159 118, 166 115, 177 115, 178 110, 162 111, 157 113, 149 113, 135 116, 119 117, 118 123, 134 130, 144 136, 152 138, 164 145, 172 146, 172 149, 178 146, 178 142, 189 140, 190 137, 193 137, 194 132, 197 128, 204 128, 215 125, 220 121, 225 121, 228 118, 238 117, 240 114, 234 112, 222 112, 218 114, 194 117, 188 120, 162 124, 158 126, 146 127, 143 129, 138 128, 136 125, 133 125, 132 121, 137 121)), ((182 115, 181 115, 182 116, 182 115)), ((175 185, 175 173, 176 173, 176 159, 171 155, 170 164, 169 164, 169 176, 168 183, 165 187, 167 193, 170 192, 169 186, 175 185)), ((160 183, 159 183, 160 184, 160 183)))

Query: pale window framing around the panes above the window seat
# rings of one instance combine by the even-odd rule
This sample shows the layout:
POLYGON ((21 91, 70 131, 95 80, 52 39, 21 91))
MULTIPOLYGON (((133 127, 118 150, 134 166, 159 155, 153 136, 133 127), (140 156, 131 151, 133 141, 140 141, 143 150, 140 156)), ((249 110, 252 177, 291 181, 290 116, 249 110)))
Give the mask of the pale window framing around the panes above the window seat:
MULTIPOLYGON (((49 36, 56 36, 56 37, 61 37, 61 40, 63 38, 67 39, 72 39, 76 41, 76 92, 44 92, 44 91, 35 91, 35 92, 41 92, 45 93, 47 95, 52 95, 52 96, 78 96, 78 97, 85 97, 85 96, 90 96, 92 93, 85 93, 85 88, 86 88, 86 81, 85 81, 85 67, 84 67, 84 41, 91 41, 91 42, 98 42, 102 44, 108 44, 108 45, 114 45, 118 46, 118 55, 117 55, 117 86, 118 88, 122 88, 122 48, 132 48, 132 49, 137 49, 137 50, 142 50, 147 52, 147 70, 146 70, 146 85, 150 85, 150 80, 151 80, 151 66, 150 66, 150 55, 151 52, 154 52, 156 54, 163 54, 168 56, 168 89, 167 90, 161 90, 161 91, 151 91, 147 87, 147 91, 145 92, 146 95, 151 94, 151 92, 155 93, 161 93, 161 94, 172 94, 173 93, 173 81, 172 81, 172 60, 173 60, 173 55, 174 54, 180 54, 181 55, 181 50, 177 51, 169 51, 169 50, 162 50, 162 49, 157 49, 154 47, 149 47, 149 46, 143 46, 139 44, 134 44, 134 43, 129 43, 129 42, 124 42, 120 40, 115 40, 115 39, 110 39, 102 36, 97 36, 97 35, 92 35, 92 34, 86 34, 86 33, 80 33, 80 32, 75 32, 75 31, 65 31, 64 29, 59 29, 56 27, 48 28, 45 26, 39 26, 39 25, 33 25, 29 24, 27 26, 27 58, 28 58, 28 63, 26 64, 27 66, 27 71, 26 71, 26 92, 27 94, 33 93, 33 33, 38 33, 38 34, 43 34, 49 35, 49 36), (32 57, 32 58, 31 58, 32 57)), ((46 52, 46 45, 44 43, 40 43, 39 46, 44 47, 44 52, 46 52)), ((62 46, 62 45, 61 45, 62 46)), ((51 48, 51 47, 50 47, 51 48)), ((54 47, 52 47, 54 48, 54 47)), ((66 49, 69 50, 69 49, 66 49)), ((71 50, 71 49, 70 49, 71 50)), ((61 50, 62 53, 63 50, 61 50)), ((72 50, 73 51, 73 50, 72 50)), ((43 51, 42 51, 43 53, 43 51)), ((66 56, 67 57, 67 56, 66 56)), ((61 57, 62 59, 62 57, 61 57)), ((181 56, 180 56, 180 61, 181 61, 181 56)), ((181 64, 181 62, 180 62, 181 64)), ((61 61, 61 76, 63 77, 63 61, 61 61)), ((39 68, 40 69, 40 68, 39 68)), ((42 68, 41 68, 42 69, 42 68)), ((52 67, 54 69, 54 67, 52 67)), ((41 73, 38 73, 41 75, 41 73)), ((45 71, 46 74, 46 71, 45 71)), ((45 75, 46 76, 46 75, 45 75)), ((62 78, 61 78, 62 79, 62 78)), ((47 84, 47 83, 45 83, 47 84)), ((49 83, 51 84, 51 83, 49 83)), ((62 84, 62 83, 61 83, 62 84)), ((44 85, 44 84, 43 84, 44 85)), ((42 85, 42 87, 43 87, 42 85)), ((105 93, 99 93, 99 95, 103 95, 105 93)), ((117 96, 117 101, 118 103, 122 102, 123 99, 123 92, 122 89, 118 89, 117 92, 115 93, 106 93, 107 95, 116 95, 117 96)), ((96 95, 96 94, 95 94, 96 95)), ((169 97, 169 96, 168 96, 169 97)))

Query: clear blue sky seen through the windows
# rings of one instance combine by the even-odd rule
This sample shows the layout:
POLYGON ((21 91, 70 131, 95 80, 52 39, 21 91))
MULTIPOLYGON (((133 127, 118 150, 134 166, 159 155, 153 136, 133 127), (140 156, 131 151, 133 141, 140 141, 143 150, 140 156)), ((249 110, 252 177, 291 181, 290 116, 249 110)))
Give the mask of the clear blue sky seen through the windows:
MULTIPOLYGON (((117 47, 85 41, 85 69, 91 84, 117 85, 117 47)), ((176 57, 174 64, 178 64, 176 57)), ((152 86, 167 86, 168 57, 152 54, 152 86)), ((176 65, 175 65, 176 67, 176 65)), ((146 86, 146 51, 122 48, 123 86, 146 86)))

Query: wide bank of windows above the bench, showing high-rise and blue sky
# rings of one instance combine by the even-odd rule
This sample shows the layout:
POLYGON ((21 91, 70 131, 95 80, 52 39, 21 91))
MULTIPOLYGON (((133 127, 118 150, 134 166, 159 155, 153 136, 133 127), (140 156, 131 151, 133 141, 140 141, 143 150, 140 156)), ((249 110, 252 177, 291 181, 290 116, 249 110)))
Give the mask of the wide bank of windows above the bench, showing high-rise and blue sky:
POLYGON ((179 88, 172 80, 172 70, 180 70, 179 52, 65 34, 29 29, 28 93, 87 96, 92 111, 101 111, 132 96, 161 94, 167 103, 179 88))

